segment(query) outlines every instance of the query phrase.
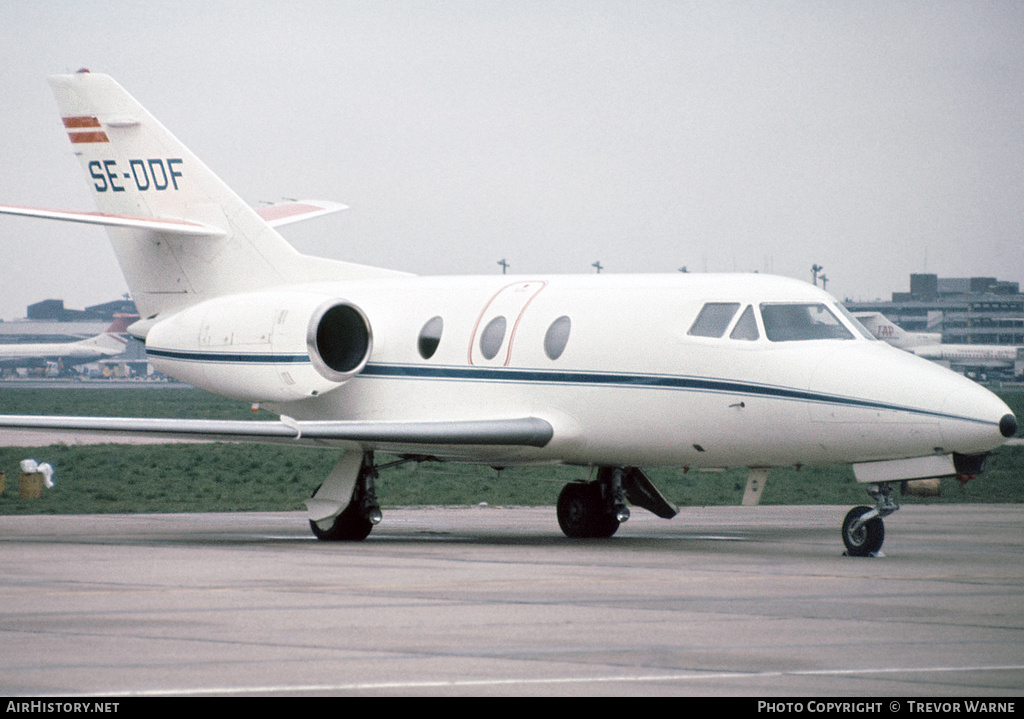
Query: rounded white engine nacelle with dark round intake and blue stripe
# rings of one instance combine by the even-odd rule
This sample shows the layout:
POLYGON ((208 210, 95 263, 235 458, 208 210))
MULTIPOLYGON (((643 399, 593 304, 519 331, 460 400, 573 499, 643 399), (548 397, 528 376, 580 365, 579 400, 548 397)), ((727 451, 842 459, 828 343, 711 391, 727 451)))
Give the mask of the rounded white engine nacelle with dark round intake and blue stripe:
POLYGON ((197 387, 246 401, 331 391, 366 367, 373 333, 344 299, 295 291, 208 300, 146 333, 150 361, 197 387))

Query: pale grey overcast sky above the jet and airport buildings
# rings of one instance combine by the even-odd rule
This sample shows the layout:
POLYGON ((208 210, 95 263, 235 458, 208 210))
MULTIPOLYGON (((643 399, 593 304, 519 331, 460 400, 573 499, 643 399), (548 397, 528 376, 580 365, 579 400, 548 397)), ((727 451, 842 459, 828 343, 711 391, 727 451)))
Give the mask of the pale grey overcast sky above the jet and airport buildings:
MULTIPOLYGON (((1024 283, 1024 3, 0 0, 0 203, 95 209, 47 75, 108 73, 300 251, 424 274, 1024 283)), ((0 319, 127 291, 0 218, 0 319)))

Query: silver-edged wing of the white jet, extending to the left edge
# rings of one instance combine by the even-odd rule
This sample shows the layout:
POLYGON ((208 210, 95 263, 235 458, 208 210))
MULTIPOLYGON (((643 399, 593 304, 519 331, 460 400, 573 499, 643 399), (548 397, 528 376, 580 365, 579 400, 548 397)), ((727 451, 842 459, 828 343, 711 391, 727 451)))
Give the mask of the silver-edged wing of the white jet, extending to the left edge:
POLYGON ((0 445, 16 443, 17 430, 317 447, 330 441, 422 445, 425 449, 428 446, 544 447, 554 435, 552 426, 537 417, 458 422, 333 422, 296 421, 290 417, 251 421, 0 415, 0 445))

